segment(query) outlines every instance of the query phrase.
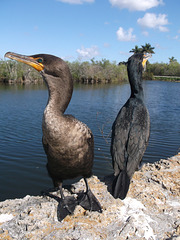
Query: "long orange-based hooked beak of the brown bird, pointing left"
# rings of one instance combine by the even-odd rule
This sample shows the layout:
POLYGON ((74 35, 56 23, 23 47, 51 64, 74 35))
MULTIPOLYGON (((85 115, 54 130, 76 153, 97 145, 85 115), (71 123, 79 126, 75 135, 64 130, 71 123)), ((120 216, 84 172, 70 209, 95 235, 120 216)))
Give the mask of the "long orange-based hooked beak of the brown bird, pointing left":
POLYGON ((16 60, 18 62, 25 63, 33 68, 35 68, 38 72, 41 72, 44 69, 44 65, 41 62, 38 62, 40 58, 33 58, 31 56, 25 56, 13 52, 7 52, 4 57, 16 60))

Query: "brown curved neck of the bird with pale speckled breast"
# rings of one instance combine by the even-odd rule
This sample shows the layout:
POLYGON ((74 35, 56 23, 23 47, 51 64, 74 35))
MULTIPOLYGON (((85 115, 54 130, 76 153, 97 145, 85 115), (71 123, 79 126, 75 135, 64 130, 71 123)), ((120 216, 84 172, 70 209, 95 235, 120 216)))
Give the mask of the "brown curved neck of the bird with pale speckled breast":
POLYGON ((57 79, 57 77, 43 74, 43 78, 49 91, 46 109, 56 114, 63 114, 72 97, 73 83, 71 77, 57 79))

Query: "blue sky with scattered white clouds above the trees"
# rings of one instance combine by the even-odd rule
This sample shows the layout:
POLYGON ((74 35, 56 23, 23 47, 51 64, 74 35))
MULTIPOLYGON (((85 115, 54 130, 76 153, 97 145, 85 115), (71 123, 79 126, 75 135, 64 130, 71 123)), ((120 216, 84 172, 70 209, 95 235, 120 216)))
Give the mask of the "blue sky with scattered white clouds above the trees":
POLYGON ((180 62, 179 9, 179 0, 2 0, 0 58, 13 51, 119 62, 150 43, 150 62, 180 62))

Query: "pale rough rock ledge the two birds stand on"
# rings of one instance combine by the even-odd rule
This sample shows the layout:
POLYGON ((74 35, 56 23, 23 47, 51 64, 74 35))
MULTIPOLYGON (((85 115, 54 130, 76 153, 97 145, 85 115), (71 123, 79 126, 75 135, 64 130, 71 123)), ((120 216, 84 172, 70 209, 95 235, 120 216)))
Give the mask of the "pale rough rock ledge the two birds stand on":
MULTIPOLYGON (((57 218, 59 203, 50 197, 0 202, 0 239, 180 239, 180 153, 143 165, 123 201, 110 194, 110 179, 88 180, 102 213, 77 206, 62 222, 57 218)), ((74 194, 83 189, 83 180, 71 187, 74 194)))

